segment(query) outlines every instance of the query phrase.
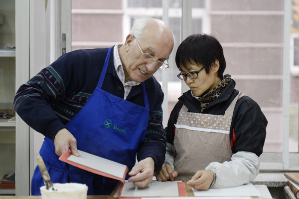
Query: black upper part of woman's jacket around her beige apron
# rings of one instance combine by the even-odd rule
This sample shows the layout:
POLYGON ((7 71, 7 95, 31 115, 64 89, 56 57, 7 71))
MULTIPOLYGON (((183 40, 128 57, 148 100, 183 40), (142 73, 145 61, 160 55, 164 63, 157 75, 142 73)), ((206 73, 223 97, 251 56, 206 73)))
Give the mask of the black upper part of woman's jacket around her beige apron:
MULTIPOLYGON (((211 102, 202 114, 224 115, 239 91, 235 89, 236 82, 231 79, 221 95, 211 102)), ((188 112, 200 113, 200 102, 191 95, 191 91, 183 93, 171 111, 165 132, 167 142, 173 145, 174 132, 178 113, 184 104, 188 112)), ((230 141, 232 152, 247 151, 260 156, 266 139, 268 121, 259 105, 250 97, 243 96, 235 106, 230 128, 230 141)))

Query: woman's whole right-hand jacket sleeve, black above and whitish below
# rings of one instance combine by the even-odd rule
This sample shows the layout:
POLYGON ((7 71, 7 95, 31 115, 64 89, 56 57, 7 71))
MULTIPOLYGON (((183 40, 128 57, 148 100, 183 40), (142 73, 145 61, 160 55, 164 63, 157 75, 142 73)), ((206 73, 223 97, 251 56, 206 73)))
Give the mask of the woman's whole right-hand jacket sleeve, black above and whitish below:
POLYGON ((237 101, 231 125, 232 158, 229 162, 210 163, 206 170, 215 173, 212 188, 248 184, 259 174, 259 156, 263 153, 267 119, 259 105, 248 96, 237 101))

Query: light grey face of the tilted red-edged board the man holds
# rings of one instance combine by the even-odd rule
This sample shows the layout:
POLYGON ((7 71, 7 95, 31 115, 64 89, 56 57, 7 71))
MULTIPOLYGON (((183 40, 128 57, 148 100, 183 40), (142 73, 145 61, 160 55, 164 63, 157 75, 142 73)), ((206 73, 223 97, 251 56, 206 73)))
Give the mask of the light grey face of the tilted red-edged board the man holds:
POLYGON ((127 166, 78 150, 80 157, 70 155, 68 161, 123 179, 127 166))

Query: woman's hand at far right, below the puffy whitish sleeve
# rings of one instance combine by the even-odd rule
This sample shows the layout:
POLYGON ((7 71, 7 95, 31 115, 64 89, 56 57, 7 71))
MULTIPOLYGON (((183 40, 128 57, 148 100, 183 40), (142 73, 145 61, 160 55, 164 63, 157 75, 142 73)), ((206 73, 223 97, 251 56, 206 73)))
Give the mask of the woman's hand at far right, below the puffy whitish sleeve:
POLYGON ((214 175, 208 170, 197 171, 196 174, 187 182, 195 190, 207 191, 213 183, 214 175))

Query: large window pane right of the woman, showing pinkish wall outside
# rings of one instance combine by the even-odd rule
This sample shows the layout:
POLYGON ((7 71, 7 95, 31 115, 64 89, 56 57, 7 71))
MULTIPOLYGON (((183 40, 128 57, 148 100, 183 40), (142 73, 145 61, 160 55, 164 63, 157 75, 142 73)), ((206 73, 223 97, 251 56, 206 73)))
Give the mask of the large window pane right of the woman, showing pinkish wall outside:
POLYGON ((211 1, 211 33, 223 45, 225 72, 268 120, 264 152, 283 150, 283 10, 283 0, 211 1))

